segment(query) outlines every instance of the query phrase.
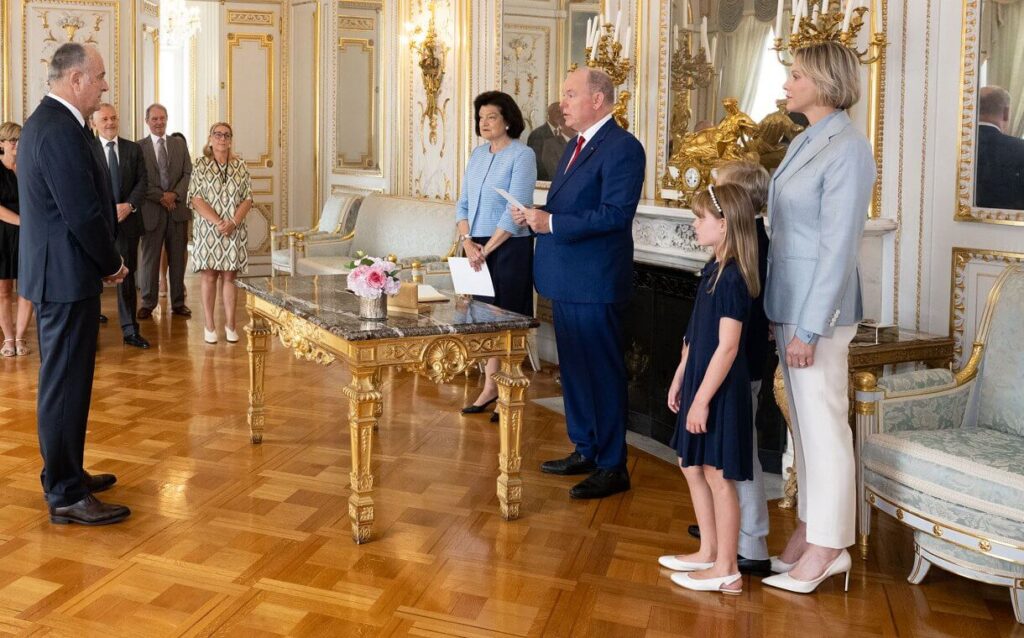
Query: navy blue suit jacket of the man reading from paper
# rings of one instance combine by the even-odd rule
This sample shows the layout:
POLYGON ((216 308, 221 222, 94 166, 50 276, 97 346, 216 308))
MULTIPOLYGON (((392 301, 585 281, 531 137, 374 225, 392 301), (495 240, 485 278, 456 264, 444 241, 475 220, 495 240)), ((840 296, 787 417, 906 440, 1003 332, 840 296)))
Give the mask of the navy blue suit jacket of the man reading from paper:
POLYGON ((565 152, 544 206, 554 232, 537 236, 534 281, 553 301, 620 303, 633 289, 633 216, 646 159, 636 137, 609 120, 565 166, 565 152))

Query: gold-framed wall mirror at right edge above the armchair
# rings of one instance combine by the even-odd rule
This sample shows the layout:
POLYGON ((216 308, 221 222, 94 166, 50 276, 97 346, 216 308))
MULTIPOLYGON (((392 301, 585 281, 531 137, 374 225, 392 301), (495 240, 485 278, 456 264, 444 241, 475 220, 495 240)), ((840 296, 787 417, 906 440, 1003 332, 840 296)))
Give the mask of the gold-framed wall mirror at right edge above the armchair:
POLYGON ((1024 225, 1024 1, 965 0, 956 219, 1024 225))

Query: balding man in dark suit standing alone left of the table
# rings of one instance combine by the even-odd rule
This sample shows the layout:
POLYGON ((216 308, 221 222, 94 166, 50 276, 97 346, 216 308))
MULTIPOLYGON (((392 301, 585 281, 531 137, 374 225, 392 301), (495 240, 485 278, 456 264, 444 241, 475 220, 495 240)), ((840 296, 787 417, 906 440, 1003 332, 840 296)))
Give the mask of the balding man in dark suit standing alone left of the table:
POLYGON ((83 467, 99 295, 103 282, 128 274, 114 244, 110 177, 85 125, 108 89, 105 76, 95 47, 61 45, 50 60, 50 93, 18 143, 18 288, 36 306, 41 479, 54 523, 102 525, 131 513, 92 496, 114 484, 113 474, 83 467))

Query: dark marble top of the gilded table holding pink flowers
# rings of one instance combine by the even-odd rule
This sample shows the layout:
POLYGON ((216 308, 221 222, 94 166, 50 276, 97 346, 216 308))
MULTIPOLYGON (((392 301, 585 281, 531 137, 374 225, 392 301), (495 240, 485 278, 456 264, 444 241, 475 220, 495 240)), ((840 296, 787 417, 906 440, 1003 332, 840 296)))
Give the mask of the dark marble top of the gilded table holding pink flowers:
POLYGON ((474 300, 421 303, 419 312, 388 309, 382 322, 359 318, 359 299, 345 289, 346 275, 240 278, 236 286, 348 341, 465 335, 527 330, 537 320, 474 300))

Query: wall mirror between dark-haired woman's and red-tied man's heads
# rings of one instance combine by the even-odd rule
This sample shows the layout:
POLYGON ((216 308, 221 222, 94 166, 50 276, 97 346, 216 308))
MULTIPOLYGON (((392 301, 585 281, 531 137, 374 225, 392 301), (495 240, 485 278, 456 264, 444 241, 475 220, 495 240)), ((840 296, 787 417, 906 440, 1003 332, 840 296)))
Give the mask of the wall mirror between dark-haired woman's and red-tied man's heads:
POLYGON ((551 179, 565 142, 556 103, 565 72, 584 66, 587 20, 601 3, 571 0, 505 0, 502 3, 502 90, 515 98, 526 120, 521 140, 537 155, 537 178, 551 179))

